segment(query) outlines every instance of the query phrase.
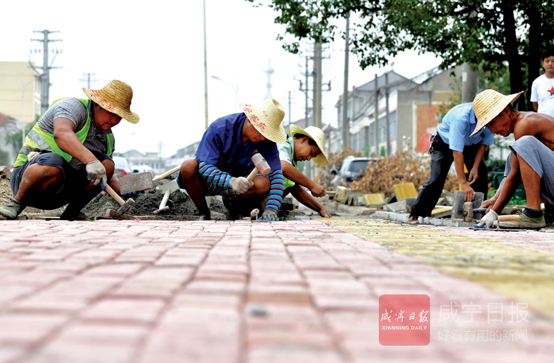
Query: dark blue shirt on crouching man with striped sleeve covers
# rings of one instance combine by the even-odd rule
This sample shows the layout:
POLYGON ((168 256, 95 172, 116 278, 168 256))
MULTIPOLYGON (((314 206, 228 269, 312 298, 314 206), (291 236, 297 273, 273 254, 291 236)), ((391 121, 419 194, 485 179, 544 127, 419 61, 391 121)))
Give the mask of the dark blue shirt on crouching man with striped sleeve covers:
POLYGON ((196 159, 212 164, 233 177, 249 175, 254 168, 253 154, 259 152, 269 164, 271 171, 281 170, 279 152, 273 141, 259 143, 247 140, 242 143, 242 126, 247 116, 231 114, 217 118, 204 132, 196 150, 196 159))

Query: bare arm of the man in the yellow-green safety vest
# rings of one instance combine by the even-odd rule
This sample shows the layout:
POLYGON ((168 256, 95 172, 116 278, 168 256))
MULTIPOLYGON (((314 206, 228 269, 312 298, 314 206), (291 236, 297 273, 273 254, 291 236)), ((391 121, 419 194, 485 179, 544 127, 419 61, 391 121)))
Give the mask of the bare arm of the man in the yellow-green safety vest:
POLYGON ((92 161, 97 161, 94 154, 78 139, 75 131, 77 127, 75 124, 69 120, 69 118, 55 118, 54 120, 54 141, 58 148, 63 152, 70 154, 75 159, 78 159, 80 162, 90 163, 92 161))

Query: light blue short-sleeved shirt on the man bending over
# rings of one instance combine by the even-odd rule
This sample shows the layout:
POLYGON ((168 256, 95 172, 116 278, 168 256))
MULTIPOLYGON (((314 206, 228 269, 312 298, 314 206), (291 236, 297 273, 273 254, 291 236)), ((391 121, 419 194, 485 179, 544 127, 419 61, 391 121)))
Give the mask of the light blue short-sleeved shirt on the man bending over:
POLYGON ((463 152, 465 146, 482 143, 492 145, 492 132, 483 127, 479 132, 470 137, 477 125, 475 112, 471 103, 462 103, 450 109, 438 125, 437 132, 440 139, 449 145, 450 150, 463 152))

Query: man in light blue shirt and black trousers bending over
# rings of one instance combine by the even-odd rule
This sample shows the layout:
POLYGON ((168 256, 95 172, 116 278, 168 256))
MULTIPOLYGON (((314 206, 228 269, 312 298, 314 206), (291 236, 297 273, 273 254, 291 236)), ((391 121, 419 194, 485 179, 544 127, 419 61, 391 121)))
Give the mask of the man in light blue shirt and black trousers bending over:
POLYGON ((483 161, 483 154, 487 145, 493 144, 493 139, 492 133, 486 127, 472 134, 476 125, 472 103, 463 103, 450 109, 443 122, 438 125, 431 144, 431 175, 415 200, 408 218, 409 223, 417 223, 418 217, 431 215, 445 186, 452 161, 466 202, 473 200, 475 191, 487 195, 488 169, 483 161), (467 170, 470 170, 467 180, 464 164, 467 170))

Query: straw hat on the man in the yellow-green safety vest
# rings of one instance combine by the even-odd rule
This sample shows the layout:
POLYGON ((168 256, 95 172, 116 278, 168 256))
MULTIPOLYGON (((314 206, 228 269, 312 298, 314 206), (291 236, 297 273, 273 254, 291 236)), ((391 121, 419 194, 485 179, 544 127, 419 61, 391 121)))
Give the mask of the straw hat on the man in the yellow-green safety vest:
POLYGON ((82 89, 88 98, 103 109, 112 112, 130 123, 138 123, 139 115, 131 112, 133 89, 125 82, 112 80, 102 89, 82 89))

